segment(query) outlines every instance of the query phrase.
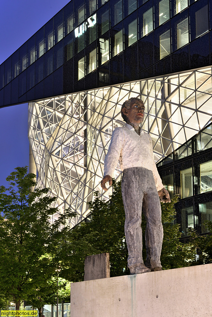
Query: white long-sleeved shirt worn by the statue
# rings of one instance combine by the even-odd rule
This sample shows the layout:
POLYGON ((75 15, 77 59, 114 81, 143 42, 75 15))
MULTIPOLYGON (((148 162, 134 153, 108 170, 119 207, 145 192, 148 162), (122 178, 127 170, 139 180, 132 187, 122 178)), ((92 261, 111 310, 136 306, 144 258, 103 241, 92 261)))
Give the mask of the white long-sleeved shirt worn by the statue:
POLYGON ((104 176, 112 177, 118 160, 122 171, 129 167, 147 168, 153 172, 157 191, 164 187, 154 162, 152 139, 143 130, 138 135, 133 126, 126 124, 113 131, 104 160, 104 176))

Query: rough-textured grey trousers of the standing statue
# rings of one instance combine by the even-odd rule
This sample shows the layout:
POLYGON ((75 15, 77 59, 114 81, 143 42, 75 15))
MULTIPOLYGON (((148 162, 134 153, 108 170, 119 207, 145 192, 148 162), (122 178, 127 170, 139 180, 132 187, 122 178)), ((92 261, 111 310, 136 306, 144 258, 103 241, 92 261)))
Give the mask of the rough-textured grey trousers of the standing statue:
POLYGON ((163 241, 161 204, 152 171, 143 167, 126 168, 122 176, 122 197, 126 215, 124 230, 129 252, 128 267, 132 268, 136 264, 143 263, 142 210, 147 221, 146 266, 162 267, 160 262, 163 241))

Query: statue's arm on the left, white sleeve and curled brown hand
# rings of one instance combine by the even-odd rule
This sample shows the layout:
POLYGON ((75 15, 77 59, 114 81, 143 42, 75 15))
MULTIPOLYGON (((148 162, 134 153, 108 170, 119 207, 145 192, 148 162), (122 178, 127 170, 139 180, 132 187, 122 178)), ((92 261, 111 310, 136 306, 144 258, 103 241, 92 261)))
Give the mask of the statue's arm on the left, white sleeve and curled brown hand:
POLYGON ((123 134, 121 129, 116 128, 113 131, 108 152, 104 160, 104 177, 101 182, 103 190, 107 191, 105 184, 109 182, 112 185, 112 174, 115 171, 117 162, 123 146, 123 134))

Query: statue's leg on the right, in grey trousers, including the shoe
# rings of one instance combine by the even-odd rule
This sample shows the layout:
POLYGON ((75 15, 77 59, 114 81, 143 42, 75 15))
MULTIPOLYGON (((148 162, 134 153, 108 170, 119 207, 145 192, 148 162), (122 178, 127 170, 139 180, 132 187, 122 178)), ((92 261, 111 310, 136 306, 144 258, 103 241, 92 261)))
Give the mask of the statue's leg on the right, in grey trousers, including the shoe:
MULTIPOLYGON (((151 172, 152 174, 152 172, 151 172)), ((161 204, 153 175, 150 176, 148 191, 143 197, 143 213, 147 221, 145 241, 147 249, 146 266, 152 271, 162 268, 160 256, 163 241, 161 204)))

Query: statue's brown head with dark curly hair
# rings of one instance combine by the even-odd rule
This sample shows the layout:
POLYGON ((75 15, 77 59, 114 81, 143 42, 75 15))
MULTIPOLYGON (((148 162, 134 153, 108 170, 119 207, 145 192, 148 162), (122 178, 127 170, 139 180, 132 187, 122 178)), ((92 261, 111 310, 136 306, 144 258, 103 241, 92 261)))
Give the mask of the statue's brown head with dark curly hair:
POLYGON ((134 126, 139 125, 144 119, 144 103, 139 98, 129 98, 124 101, 121 109, 122 118, 127 123, 134 126))

